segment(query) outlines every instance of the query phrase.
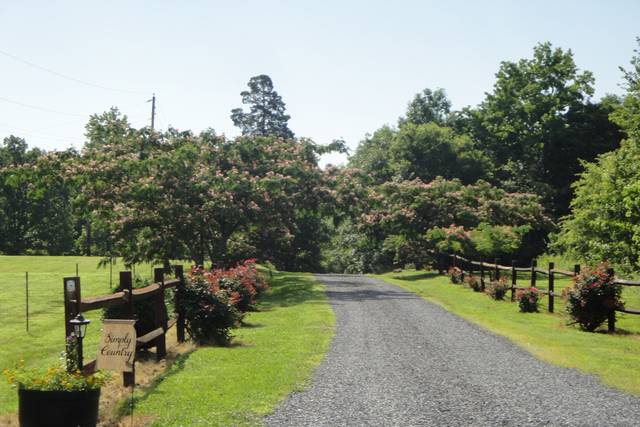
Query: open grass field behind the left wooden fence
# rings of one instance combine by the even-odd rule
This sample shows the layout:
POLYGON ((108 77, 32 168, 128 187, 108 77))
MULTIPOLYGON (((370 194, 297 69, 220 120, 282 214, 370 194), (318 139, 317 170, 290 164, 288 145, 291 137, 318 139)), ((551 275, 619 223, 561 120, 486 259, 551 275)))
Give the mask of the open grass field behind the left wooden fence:
MULTIPOLYGON (((0 371, 24 359, 28 366, 58 362, 64 347, 63 277, 75 276, 76 263, 82 295, 108 294, 109 268, 98 268, 99 257, 0 256, 0 371), (25 325, 25 272, 29 272, 29 332, 25 325)), ((152 265, 136 266, 136 275, 152 276, 152 265)), ((117 286, 122 263, 113 267, 117 286)), ((100 336, 101 311, 91 311, 86 357, 92 359, 100 336)), ((0 414, 17 411, 17 393, 0 378, 0 414)))

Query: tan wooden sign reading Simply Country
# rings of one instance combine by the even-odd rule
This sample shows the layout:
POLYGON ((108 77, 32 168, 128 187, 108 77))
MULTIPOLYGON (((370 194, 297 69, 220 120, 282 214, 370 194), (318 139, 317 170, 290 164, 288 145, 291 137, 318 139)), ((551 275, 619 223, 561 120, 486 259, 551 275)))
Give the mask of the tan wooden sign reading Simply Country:
POLYGON ((97 369, 132 372, 136 357, 135 320, 104 319, 96 358, 97 369))

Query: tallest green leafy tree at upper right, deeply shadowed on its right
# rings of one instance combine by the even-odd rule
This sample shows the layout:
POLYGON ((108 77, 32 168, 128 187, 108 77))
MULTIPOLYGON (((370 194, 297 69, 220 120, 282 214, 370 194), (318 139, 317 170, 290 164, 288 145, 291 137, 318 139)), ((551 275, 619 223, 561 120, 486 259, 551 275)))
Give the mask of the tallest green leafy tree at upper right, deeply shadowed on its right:
POLYGON ((620 134, 606 120, 606 104, 592 104, 594 78, 581 72, 571 50, 550 43, 531 59, 504 61, 492 93, 457 119, 497 165, 495 182, 510 191, 546 197, 555 215, 566 213, 580 159, 617 147, 620 134))

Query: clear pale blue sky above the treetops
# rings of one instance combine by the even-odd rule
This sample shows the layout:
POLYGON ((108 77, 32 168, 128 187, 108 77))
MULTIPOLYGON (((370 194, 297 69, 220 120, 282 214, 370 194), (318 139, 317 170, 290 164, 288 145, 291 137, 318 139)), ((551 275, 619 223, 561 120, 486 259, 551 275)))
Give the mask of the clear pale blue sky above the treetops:
MULTIPOLYGON (((596 98, 620 93, 640 35, 640 2, 617 1, 13 1, 0 3, 0 135, 29 145, 82 145, 90 114, 117 106, 148 123, 228 136, 251 76, 268 74, 298 136, 355 147, 395 123, 425 87, 455 108, 491 90, 500 61, 541 41, 571 48, 596 78, 596 98), (71 115, 7 102, 17 101, 71 115)), ((339 162, 339 158, 325 161, 339 162)))

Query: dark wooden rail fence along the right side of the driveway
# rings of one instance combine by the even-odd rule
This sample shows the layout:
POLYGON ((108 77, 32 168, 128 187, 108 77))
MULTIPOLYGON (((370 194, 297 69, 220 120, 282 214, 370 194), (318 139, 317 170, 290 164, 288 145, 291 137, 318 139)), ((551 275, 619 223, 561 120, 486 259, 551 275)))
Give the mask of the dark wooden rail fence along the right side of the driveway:
MULTIPOLYGON (((561 297, 561 294, 557 294, 555 292, 555 279, 556 276, 565 276, 565 277, 575 277, 580 273, 580 265, 576 264, 573 268, 573 271, 560 270, 555 268, 555 263, 550 262, 548 268, 539 268, 536 260, 531 261, 531 266, 529 267, 516 267, 515 261, 511 262, 511 265, 500 265, 496 260, 493 264, 486 263, 484 261, 474 261, 467 259, 465 257, 456 255, 456 254, 447 254, 447 256, 451 259, 451 262, 445 262, 446 265, 450 265, 453 267, 458 267, 462 270, 463 278, 465 273, 474 274, 474 272, 479 273, 480 275, 480 286, 482 290, 485 289, 485 273, 488 275, 489 280, 500 280, 501 271, 508 271, 511 278, 511 301, 515 301, 515 292, 517 290, 525 290, 528 287, 536 287, 538 275, 547 276, 548 289, 547 290, 539 290, 540 293, 547 295, 547 309, 550 313, 554 311, 554 303, 555 299, 561 297), (529 286, 528 287, 519 287, 518 286, 518 273, 530 273, 529 278, 529 286)), ((615 277, 615 272, 613 269, 608 270, 608 274, 614 278, 613 283, 622 285, 622 286, 640 286, 640 281, 633 280, 625 280, 618 279, 615 277)), ((616 309, 612 310, 608 317, 607 326, 609 332, 615 331, 615 323, 616 323, 616 314, 615 312, 619 311, 627 314, 638 314, 640 315, 640 310, 635 309, 616 309)))

